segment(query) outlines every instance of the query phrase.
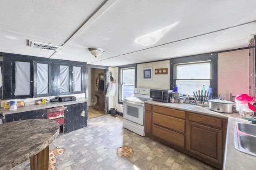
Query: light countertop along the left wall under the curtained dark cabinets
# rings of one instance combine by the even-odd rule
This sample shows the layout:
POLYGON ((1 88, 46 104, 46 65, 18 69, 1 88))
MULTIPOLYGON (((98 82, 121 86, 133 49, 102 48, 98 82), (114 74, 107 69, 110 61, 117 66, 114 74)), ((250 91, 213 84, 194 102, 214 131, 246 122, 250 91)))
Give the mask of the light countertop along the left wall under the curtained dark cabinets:
POLYGON ((9 109, 0 109, 0 115, 8 115, 8 114, 13 114, 13 113, 20 113, 20 112, 26 112, 26 111, 35 111, 35 110, 40 110, 40 109, 48 109, 52 107, 59 107, 59 106, 64 106, 64 105, 74 105, 78 103, 84 103, 88 102, 88 98, 82 97, 76 99, 76 101, 66 101, 66 102, 47 102, 45 104, 41 105, 27 105, 25 104, 24 107, 18 107, 17 110, 9 110, 9 109))

